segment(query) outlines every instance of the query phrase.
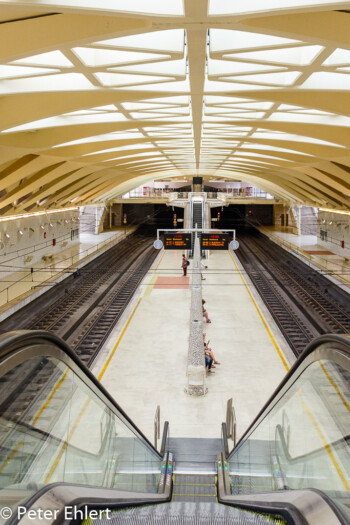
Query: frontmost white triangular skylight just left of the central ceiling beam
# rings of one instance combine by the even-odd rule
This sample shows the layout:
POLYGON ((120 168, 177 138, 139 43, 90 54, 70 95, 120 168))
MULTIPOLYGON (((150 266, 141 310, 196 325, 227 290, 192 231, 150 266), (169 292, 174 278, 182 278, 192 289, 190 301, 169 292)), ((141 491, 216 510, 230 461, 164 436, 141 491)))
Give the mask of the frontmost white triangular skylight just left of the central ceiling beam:
POLYGON ((154 50, 162 53, 183 53, 184 39, 185 32, 183 29, 168 29, 103 40, 99 44, 118 48, 154 50))

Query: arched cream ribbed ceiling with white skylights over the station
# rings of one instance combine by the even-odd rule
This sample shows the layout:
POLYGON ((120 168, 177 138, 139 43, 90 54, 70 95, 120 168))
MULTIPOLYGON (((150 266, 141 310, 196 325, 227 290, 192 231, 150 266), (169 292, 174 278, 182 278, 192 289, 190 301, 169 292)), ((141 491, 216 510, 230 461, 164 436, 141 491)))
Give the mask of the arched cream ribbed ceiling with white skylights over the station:
POLYGON ((0 0, 0 213, 193 175, 348 208, 349 27, 326 0, 0 0))

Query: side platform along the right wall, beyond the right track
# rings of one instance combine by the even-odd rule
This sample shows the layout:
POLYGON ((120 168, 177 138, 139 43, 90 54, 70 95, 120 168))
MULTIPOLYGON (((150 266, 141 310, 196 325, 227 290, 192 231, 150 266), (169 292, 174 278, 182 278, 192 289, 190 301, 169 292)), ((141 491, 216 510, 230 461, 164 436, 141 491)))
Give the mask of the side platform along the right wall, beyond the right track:
POLYGON ((350 259, 332 252, 331 244, 327 250, 318 244, 316 235, 296 235, 288 228, 261 226, 258 229, 350 293, 350 259))

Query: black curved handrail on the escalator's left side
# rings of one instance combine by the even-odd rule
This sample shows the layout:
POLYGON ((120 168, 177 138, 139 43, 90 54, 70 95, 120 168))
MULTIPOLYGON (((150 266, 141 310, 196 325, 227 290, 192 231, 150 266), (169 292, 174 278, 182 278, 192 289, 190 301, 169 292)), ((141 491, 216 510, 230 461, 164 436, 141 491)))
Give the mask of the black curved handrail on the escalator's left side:
MULTIPOLYGON (((57 347, 59 351, 63 352, 68 358, 68 362, 66 364, 73 371, 73 373, 77 373, 81 379, 85 376, 85 378, 91 381, 95 389, 97 389, 99 393, 102 394, 102 397, 107 398, 110 405, 112 405, 116 410, 116 415, 122 415, 122 417, 128 422, 138 437, 140 437, 147 444, 147 446, 152 449, 153 453, 155 453, 159 459, 162 459, 162 456, 159 454, 158 450, 152 445, 152 443, 137 427, 137 425, 135 425, 126 412, 124 412, 124 410, 118 405, 118 403, 96 379, 92 372, 80 361, 79 357, 73 352, 67 343, 55 334, 46 332, 45 330, 19 330, 1 334, 0 369, 1 365, 7 358, 13 356, 15 353, 19 353, 24 349, 24 347, 32 345, 44 345, 45 343, 49 343, 52 345, 53 349, 57 347)), ((42 355, 45 356, 44 353, 42 355)), ((35 356, 37 356, 37 354, 35 354, 35 356)), ((31 356, 29 355, 28 357, 30 358, 31 356)), ((57 358, 60 359, 59 356, 57 356, 57 358)))

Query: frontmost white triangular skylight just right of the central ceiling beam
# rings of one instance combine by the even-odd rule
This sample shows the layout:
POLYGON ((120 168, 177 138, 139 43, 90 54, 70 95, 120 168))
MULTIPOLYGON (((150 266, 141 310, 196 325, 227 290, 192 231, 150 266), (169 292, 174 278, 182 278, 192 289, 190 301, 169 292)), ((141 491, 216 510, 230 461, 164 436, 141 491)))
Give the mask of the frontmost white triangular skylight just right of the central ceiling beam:
MULTIPOLYGON (((230 3, 232 4, 231 1, 230 3)), ((210 30, 211 53, 237 52, 245 49, 259 49, 261 47, 281 46, 298 42, 298 40, 290 40, 289 38, 249 33, 246 31, 234 31, 231 29, 210 30)))

